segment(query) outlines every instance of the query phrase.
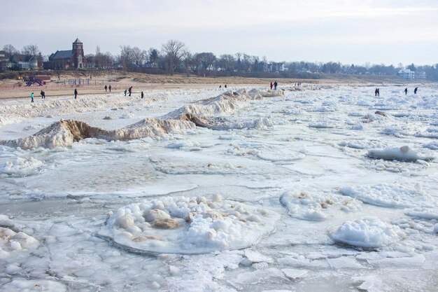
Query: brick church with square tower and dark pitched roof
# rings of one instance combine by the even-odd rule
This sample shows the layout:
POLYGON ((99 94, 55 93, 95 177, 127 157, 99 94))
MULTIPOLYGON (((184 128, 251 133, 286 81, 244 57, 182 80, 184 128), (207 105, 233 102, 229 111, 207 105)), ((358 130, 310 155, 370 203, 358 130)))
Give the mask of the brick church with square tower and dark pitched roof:
POLYGON ((57 50, 44 62, 44 69, 82 69, 87 67, 83 43, 76 39, 71 50, 57 50))

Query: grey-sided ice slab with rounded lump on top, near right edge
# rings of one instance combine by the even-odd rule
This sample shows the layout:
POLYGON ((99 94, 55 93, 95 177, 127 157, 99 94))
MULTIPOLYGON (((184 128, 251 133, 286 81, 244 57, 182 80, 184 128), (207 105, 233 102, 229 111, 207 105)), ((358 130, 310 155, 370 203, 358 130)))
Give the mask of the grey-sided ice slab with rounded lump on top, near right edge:
POLYGON ((420 155, 409 148, 409 146, 402 146, 400 148, 369 149, 368 156, 369 158, 374 159, 399 160, 404 162, 416 162, 417 160, 430 161, 435 159, 433 156, 420 155))

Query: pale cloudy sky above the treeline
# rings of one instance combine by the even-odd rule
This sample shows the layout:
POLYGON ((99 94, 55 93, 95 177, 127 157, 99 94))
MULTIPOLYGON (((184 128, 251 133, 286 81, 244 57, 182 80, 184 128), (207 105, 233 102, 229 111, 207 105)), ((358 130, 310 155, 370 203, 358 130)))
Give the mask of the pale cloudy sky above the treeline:
POLYGON ((1 0, 0 48, 116 55, 121 45, 267 60, 437 64, 437 0, 1 0))

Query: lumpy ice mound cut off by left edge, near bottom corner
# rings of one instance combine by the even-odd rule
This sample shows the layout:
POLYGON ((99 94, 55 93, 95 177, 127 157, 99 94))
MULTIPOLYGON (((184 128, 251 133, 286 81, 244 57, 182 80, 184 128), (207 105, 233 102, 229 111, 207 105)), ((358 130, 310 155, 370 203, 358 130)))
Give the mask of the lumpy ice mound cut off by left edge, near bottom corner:
POLYGON ((24 232, 15 232, 0 227, 0 258, 5 258, 14 251, 32 250, 39 246, 39 241, 24 232))

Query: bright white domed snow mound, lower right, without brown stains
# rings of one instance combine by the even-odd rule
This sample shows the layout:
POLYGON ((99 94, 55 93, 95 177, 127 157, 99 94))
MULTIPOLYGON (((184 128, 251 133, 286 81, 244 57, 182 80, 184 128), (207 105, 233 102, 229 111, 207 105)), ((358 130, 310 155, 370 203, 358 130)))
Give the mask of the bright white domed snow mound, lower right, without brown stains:
POLYGON ((379 248, 400 240, 403 233, 398 226, 389 225, 376 217, 346 221, 330 232, 334 242, 367 248, 379 248))

